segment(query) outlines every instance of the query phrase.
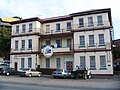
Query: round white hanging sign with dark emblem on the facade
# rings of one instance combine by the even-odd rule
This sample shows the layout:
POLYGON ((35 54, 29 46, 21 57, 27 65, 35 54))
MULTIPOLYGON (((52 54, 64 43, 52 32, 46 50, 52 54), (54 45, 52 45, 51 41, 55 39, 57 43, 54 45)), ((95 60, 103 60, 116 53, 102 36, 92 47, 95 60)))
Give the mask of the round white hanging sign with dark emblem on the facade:
POLYGON ((53 55, 53 48, 50 45, 47 45, 43 48, 43 55, 46 58, 50 58, 53 55))

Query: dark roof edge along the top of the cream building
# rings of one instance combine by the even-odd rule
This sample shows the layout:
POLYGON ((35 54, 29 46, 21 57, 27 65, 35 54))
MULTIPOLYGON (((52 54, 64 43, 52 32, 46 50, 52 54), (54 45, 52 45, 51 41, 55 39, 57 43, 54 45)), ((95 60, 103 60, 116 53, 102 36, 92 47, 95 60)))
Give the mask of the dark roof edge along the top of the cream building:
POLYGON ((93 10, 71 13, 69 15, 51 17, 51 18, 46 18, 46 19, 40 19, 38 17, 33 17, 33 18, 28 18, 28 19, 22 19, 22 20, 19 20, 19 21, 13 21, 13 22, 11 22, 11 24, 31 22, 31 21, 39 21, 41 23, 65 21, 65 20, 72 20, 72 18, 75 17, 75 16, 99 14, 99 13, 106 13, 106 12, 108 13, 108 16, 109 16, 110 25, 112 26, 111 9, 110 8, 107 8, 107 9, 93 9, 93 10))

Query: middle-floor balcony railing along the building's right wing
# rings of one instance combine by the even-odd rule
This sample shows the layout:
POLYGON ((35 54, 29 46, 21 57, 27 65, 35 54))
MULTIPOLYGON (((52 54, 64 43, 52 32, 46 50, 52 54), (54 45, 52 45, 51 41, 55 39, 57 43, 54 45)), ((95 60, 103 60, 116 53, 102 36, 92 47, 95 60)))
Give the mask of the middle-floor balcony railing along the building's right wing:
POLYGON ((84 45, 80 45, 80 44, 74 45, 74 49, 96 49, 96 48, 111 49, 111 43, 104 43, 104 44, 94 43, 92 45, 90 45, 89 43, 85 43, 84 45))

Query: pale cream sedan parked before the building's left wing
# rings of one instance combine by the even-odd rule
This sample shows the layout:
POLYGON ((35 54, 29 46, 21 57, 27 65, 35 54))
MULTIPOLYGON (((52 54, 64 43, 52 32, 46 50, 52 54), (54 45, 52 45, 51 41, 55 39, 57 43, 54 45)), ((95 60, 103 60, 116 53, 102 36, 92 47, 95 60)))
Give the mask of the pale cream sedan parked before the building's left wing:
POLYGON ((31 69, 31 68, 21 68, 19 70, 19 74, 20 76, 29 76, 29 77, 32 77, 32 76, 42 76, 42 73, 41 72, 38 72, 37 70, 35 69, 31 69))

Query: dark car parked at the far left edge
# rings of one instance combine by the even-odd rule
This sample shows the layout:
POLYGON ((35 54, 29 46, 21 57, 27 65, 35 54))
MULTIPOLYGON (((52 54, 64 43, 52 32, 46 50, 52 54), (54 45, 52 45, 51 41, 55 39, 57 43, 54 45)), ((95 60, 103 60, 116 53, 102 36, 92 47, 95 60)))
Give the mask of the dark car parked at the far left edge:
POLYGON ((2 74, 3 75, 18 75, 18 71, 15 70, 14 68, 3 68, 2 69, 2 74))

